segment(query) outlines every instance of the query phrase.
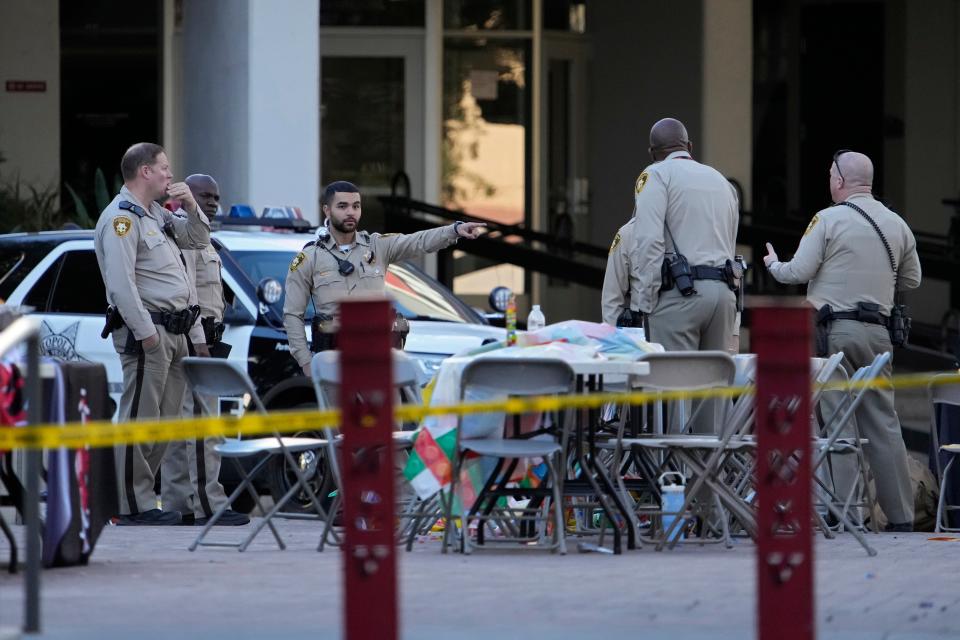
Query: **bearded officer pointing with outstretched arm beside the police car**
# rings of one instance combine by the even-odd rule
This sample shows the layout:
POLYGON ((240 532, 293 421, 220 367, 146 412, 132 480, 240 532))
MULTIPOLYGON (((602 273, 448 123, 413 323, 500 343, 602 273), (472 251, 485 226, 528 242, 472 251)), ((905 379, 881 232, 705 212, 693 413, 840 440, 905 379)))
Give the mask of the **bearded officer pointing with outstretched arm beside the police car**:
POLYGON ((312 356, 303 317, 311 298, 316 313, 332 318, 336 326, 341 300, 384 292, 390 263, 439 251, 460 238, 477 238, 485 226, 458 221, 407 235, 359 231, 360 191, 343 181, 324 189, 322 209, 326 226, 317 240, 308 243, 290 263, 283 304, 290 353, 307 376, 312 356))

